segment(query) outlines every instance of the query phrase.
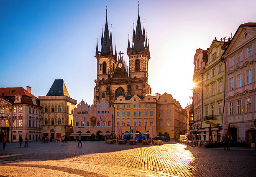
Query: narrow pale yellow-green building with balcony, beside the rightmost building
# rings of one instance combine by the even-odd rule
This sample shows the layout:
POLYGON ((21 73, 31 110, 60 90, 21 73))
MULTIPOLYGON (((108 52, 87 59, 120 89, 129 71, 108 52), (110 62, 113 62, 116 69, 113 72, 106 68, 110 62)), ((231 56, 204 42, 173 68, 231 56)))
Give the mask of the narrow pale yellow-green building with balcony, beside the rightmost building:
MULTIPOLYGON (((224 105, 224 86, 225 86, 225 63, 220 58, 224 52, 224 41, 212 41, 207 52, 208 61, 203 70, 203 120, 200 133, 206 134, 209 140, 209 126, 211 124, 212 133, 220 134, 217 127, 222 125, 223 105, 224 105)), ((215 140, 218 136, 215 137, 215 140)), ((203 138, 202 138, 203 139, 203 138)), ((214 139, 214 137, 213 137, 214 139)))

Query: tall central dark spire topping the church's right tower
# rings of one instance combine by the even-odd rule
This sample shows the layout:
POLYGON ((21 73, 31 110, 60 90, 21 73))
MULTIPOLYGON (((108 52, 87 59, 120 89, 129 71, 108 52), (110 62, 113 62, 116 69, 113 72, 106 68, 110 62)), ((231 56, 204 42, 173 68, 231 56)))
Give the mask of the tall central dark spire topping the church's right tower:
POLYGON ((135 38, 134 38, 134 47, 133 47, 134 50, 141 50, 144 48, 139 7, 140 5, 138 4, 138 20, 137 20, 136 32, 135 32, 135 38))

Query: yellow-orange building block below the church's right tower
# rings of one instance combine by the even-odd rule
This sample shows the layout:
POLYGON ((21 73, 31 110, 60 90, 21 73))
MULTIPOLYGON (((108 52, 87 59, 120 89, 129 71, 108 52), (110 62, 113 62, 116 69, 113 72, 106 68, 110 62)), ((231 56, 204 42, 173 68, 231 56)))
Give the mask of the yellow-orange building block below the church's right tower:
MULTIPOLYGON (((184 134, 187 129, 186 111, 171 94, 147 94, 145 97, 134 95, 120 96, 114 102, 116 125, 128 133, 136 125, 138 133, 149 131, 153 125, 153 136, 167 133, 171 139, 184 134)), ((115 127, 116 127, 115 125, 115 127)))

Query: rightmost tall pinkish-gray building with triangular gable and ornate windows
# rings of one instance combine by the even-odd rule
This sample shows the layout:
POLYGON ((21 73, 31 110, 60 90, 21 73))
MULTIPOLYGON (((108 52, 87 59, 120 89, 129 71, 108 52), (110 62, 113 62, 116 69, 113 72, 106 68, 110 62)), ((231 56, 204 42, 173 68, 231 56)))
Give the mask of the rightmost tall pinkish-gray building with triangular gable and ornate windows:
POLYGON ((224 133, 231 140, 255 146, 256 136, 256 23, 241 24, 223 53, 226 65, 224 133))

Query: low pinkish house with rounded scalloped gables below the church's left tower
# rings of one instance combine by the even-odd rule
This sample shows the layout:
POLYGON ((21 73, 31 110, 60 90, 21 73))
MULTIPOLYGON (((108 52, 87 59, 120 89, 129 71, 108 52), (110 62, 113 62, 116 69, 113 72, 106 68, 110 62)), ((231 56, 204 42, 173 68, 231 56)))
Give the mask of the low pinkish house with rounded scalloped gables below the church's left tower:
POLYGON ((101 100, 95 106, 87 105, 82 100, 74 108, 74 133, 71 136, 81 134, 83 140, 101 138, 103 135, 110 136, 114 130, 113 116, 114 107, 110 107, 105 100, 101 100))

